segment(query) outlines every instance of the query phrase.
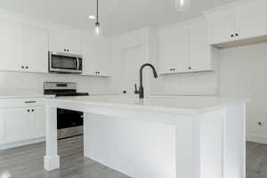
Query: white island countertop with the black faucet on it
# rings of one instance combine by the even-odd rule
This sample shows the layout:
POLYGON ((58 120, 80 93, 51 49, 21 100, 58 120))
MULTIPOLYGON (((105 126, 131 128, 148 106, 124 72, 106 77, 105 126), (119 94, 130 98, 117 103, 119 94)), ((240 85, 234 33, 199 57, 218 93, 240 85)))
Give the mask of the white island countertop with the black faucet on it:
POLYGON ((191 114, 198 114, 211 109, 220 109, 232 104, 247 102, 245 99, 204 96, 150 96, 140 100, 137 96, 129 97, 123 95, 58 97, 49 99, 49 101, 70 102, 73 104, 83 103, 124 109, 152 109, 155 111, 191 114))

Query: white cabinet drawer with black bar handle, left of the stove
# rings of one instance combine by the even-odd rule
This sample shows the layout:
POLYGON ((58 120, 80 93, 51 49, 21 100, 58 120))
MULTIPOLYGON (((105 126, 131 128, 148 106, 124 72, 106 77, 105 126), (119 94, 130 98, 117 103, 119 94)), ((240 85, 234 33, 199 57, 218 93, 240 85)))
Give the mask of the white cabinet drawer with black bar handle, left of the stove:
POLYGON ((44 106, 44 100, 41 98, 0 100, 0 109, 32 107, 32 106, 44 106))

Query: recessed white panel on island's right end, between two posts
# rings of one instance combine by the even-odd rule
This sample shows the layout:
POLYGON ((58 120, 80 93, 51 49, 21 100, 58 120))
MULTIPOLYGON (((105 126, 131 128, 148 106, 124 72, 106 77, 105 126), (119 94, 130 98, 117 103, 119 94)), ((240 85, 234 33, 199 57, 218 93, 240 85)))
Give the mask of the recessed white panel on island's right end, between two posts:
POLYGON ((217 109, 200 117, 200 176, 223 178, 223 120, 226 109, 217 109))

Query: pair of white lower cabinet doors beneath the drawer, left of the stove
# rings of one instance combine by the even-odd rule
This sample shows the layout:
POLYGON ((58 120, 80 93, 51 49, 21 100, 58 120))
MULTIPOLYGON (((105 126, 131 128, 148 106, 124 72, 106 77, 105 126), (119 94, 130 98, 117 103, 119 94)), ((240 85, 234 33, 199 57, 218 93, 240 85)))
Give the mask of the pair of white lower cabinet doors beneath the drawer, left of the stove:
POLYGON ((1 144, 26 142, 44 137, 44 106, 1 109, 0 127, 1 144))

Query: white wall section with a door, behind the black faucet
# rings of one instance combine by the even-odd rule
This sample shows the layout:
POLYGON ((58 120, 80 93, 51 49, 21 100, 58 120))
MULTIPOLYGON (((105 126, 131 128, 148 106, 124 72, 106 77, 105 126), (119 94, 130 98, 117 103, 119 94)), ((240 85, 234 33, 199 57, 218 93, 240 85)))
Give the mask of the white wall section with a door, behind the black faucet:
MULTIPOLYGON (((145 62, 149 61, 148 55, 148 31, 149 28, 142 28, 138 30, 134 30, 128 32, 122 36, 115 36, 112 39, 112 62, 113 62, 113 75, 112 75, 112 83, 114 86, 114 90, 117 93, 122 93, 123 90, 128 89, 128 94, 133 95, 134 93, 134 84, 139 86, 139 69, 141 65, 145 62), (137 50, 138 49, 138 50, 137 50), (136 54, 138 52, 140 54, 136 54), (127 58, 128 54, 133 54, 133 58, 127 58), (135 59, 134 57, 141 58, 135 59), (140 61, 140 65, 136 65, 136 62, 131 62, 130 60, 138 60, 140 61), (127 61, 127 62, 125 62, 127 61), (127 65, 127 66, 124 66, 127 65), (131 69, 131 71, 127 72, 125 69, 129 68, 136 68, 131 69), (124 77, 127 76, 127 77, 124 77), (126 83, 124 78, 133 78, 132 81, 126 83), (125 86, 127 85, 127 86, 125 86)), ((145 87, 145 93, 149 93, 150 88, 150 78, 148 77, 147 73, 149 71, 146 69, 144 71, 143 83, 145 87)), ((136 95, 137 96, 137 95, 136 95)))

